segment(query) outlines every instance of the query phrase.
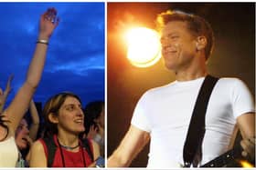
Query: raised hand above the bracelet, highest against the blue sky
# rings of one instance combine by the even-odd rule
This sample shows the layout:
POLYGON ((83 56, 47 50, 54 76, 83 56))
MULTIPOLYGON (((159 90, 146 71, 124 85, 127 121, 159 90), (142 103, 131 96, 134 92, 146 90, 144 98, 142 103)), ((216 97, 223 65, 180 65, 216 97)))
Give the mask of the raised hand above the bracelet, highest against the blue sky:
POLYGON ((48 40, 52 35, 53 30, 59 25, 59 17, 57 17, 57 10, 55 8, 48 8, 40 17, 39 23, 39 39, 48 40))

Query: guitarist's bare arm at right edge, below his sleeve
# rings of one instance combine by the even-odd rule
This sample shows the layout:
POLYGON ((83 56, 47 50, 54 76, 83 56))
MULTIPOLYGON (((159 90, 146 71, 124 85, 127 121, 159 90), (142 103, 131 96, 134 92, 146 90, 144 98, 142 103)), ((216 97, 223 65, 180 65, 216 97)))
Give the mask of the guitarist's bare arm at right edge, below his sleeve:
POLYGON ((255 113, 240 115, 237 121, 242 135, 240 142, 243 148, 242 155, 255 160, 255 113))

